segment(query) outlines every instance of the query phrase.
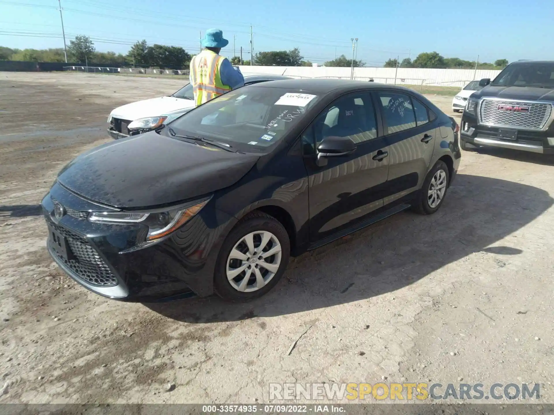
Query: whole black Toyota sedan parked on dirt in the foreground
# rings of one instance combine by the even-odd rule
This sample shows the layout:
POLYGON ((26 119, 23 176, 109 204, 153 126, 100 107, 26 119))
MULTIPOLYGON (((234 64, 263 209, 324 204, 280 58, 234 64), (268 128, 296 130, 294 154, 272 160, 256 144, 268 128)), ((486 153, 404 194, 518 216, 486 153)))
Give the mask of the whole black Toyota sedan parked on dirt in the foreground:
POLYGON ((291 255, 409 207, 433 214, 459 159, 458 125, 412 90, 244 86, 66 165, 42 201, 48 250, 106 297, 248 300, 291 255))

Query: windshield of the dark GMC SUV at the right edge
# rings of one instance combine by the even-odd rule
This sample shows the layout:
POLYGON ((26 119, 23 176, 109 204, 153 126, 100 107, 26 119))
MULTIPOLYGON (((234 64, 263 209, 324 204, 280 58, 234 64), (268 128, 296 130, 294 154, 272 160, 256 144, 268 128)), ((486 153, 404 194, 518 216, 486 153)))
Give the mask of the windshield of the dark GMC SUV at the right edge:
POLYGON ((509 65, 490 85, 554 88, 554 63, 509 65))

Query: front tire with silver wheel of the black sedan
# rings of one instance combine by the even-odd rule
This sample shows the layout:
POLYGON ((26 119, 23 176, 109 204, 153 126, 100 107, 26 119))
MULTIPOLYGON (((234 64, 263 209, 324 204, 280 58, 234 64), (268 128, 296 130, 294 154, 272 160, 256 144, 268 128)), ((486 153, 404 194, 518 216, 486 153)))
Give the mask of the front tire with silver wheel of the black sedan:
POLYGON ((214 273, 214 290, 219 297, 232 302, 259 298, 283 277, 289 257, 289 234, 281 222, 263 212, 251 212, 240 220, 223 242, 214 273), (262 255, 275 252, 265 258, 256 251, 264 238, 262 255), (253 256, 254 252, 258 255, 253 256), (245 279, 247 276, 248 280, 245 279))

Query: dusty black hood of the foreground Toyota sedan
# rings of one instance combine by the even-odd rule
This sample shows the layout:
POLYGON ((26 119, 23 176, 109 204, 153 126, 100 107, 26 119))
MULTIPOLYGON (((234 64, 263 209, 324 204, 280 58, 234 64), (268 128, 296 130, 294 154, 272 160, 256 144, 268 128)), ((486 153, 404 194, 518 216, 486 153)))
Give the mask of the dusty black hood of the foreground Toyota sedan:
POLYGON ((102 144, 66 165, 58 181, 101 204, 141 208, 206 195, 236 183, 259 159, 154 131, 102 144))

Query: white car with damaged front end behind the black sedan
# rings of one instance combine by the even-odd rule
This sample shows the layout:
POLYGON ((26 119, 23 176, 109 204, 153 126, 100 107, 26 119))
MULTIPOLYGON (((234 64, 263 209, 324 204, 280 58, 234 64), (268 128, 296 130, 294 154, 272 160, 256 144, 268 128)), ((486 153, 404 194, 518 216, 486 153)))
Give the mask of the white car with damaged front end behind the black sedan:
MULTIPOLYGON (((250 75, 244 77, 244 85, 258 82, 290 79, 281 75, 250 75)), ((118 139, 152 131, 194 108, 192 85, 182 87, 175 94, 131 102, 115 108, 107 118, 110 137, 118 139)))

